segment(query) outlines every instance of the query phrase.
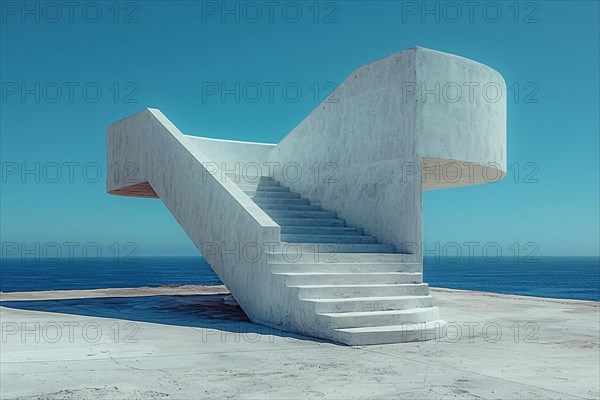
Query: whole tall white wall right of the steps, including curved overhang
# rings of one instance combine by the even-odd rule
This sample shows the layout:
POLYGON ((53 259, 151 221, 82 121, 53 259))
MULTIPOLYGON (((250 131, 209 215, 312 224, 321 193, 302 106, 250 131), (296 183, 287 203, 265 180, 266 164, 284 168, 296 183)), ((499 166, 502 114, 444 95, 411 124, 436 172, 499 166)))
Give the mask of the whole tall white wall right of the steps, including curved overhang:
POLYGON ((292 190, 397 251, 419 254, 423 189, 485 183, 482 164, 504 175, 505 95, 504 80, 491 68, 412 48, 354 71, 336 90, 336 100, 311 112, 269 161, 301 167, 299 179, 276 169, 275 178, 292 190), (467 89, 458 99, 451 91, 457 85, 467 89), (470 96, 471 87, 479 94, 470 96), (502 93, 492 101, 494 87, 502 93), (428 180, 423 170, 439 162, 466 162, 475 178, 428 180), (333 179, 321 178, 326 165, 336 170, 333 179))

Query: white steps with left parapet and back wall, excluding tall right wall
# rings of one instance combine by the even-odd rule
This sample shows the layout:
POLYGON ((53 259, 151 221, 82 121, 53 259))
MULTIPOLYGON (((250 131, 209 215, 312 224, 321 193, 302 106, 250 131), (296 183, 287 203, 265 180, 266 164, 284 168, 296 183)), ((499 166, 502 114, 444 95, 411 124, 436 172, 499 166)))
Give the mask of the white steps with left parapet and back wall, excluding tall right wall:
POLYGON ((107 191, 160 198, 256 324, 349 345, 443 336, 420 254, 396 253, 271 177, 227 172, 273 147, 187 136, 146 109, 108 128, 108 165, 139 169, 108 174, 107 191))

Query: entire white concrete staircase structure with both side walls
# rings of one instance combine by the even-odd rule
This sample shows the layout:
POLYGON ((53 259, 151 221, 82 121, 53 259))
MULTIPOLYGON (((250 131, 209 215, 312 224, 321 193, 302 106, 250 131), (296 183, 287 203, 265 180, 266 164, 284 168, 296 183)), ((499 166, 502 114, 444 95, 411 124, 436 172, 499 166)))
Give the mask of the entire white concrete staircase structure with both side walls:
POLYGON ((504 176, 505 93, 484 65, 412 48, 358 68, 277 145, 187 136, 146 109, 108 128, 108 164, 131 172, 108 192, 160 197, 256 323, 433 339, 422 191, 504 176))

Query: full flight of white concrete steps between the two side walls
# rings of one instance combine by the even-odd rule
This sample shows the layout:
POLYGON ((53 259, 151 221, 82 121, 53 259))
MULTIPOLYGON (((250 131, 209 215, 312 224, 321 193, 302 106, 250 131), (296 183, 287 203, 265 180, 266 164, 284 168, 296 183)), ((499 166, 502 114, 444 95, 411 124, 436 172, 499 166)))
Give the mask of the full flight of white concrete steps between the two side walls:
POLYGON ((423 283, 420 260, 395 254, 270 177, 229 178, 281 226, 271 273, 290 305, 312 318, 315 336, 350 345, 440 337, 445 322, 423 283))

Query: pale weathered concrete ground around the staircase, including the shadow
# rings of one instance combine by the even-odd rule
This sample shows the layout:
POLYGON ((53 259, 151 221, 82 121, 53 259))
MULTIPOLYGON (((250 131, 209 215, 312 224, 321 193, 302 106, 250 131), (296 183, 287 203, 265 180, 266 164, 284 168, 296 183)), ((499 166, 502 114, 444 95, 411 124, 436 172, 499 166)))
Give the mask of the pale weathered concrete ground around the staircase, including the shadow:
MULTIPOLYGON (((124 293, 116 289, 103 291, 108 296, 104 299, 60 300, 63 294, 46 292, 34 298, 48 296, 48 301, 3 301, 1 397, 597 399, 600 395, 597 302, 434 289, 449 322, 445 339, 346 347, 254 325, 225 294, 203 294, 205 289, 195 287, 188 288, 187 296, 175 288, 177 296, 172 296, 170 290, 144 289, 143 296, 152 292, 156 296, 143 298, 114 297, 124 293), (131 321, 137 330, 126 338, 132 330, 125 324, 131 321), (6 334, 8 325, 22 323, 31 330, 40 324, 39 343, 33 334, 24 339, 20 332, 6 334), (79 324, 73 340, 65 329, 51 343, 52 327, 66 323, 79 324), (102 337, 90 340, 94 338, 90 329, 84 338, 85 324, 97 324, 102 337), (115 340, 117 326, 121 331, 115 340), (457 337, 459 326, 462 335, 457 337)), ((130 296, 135 291, 125 290, 130 296)), ((100 295, 85 292, 77 297, 100 295)))

